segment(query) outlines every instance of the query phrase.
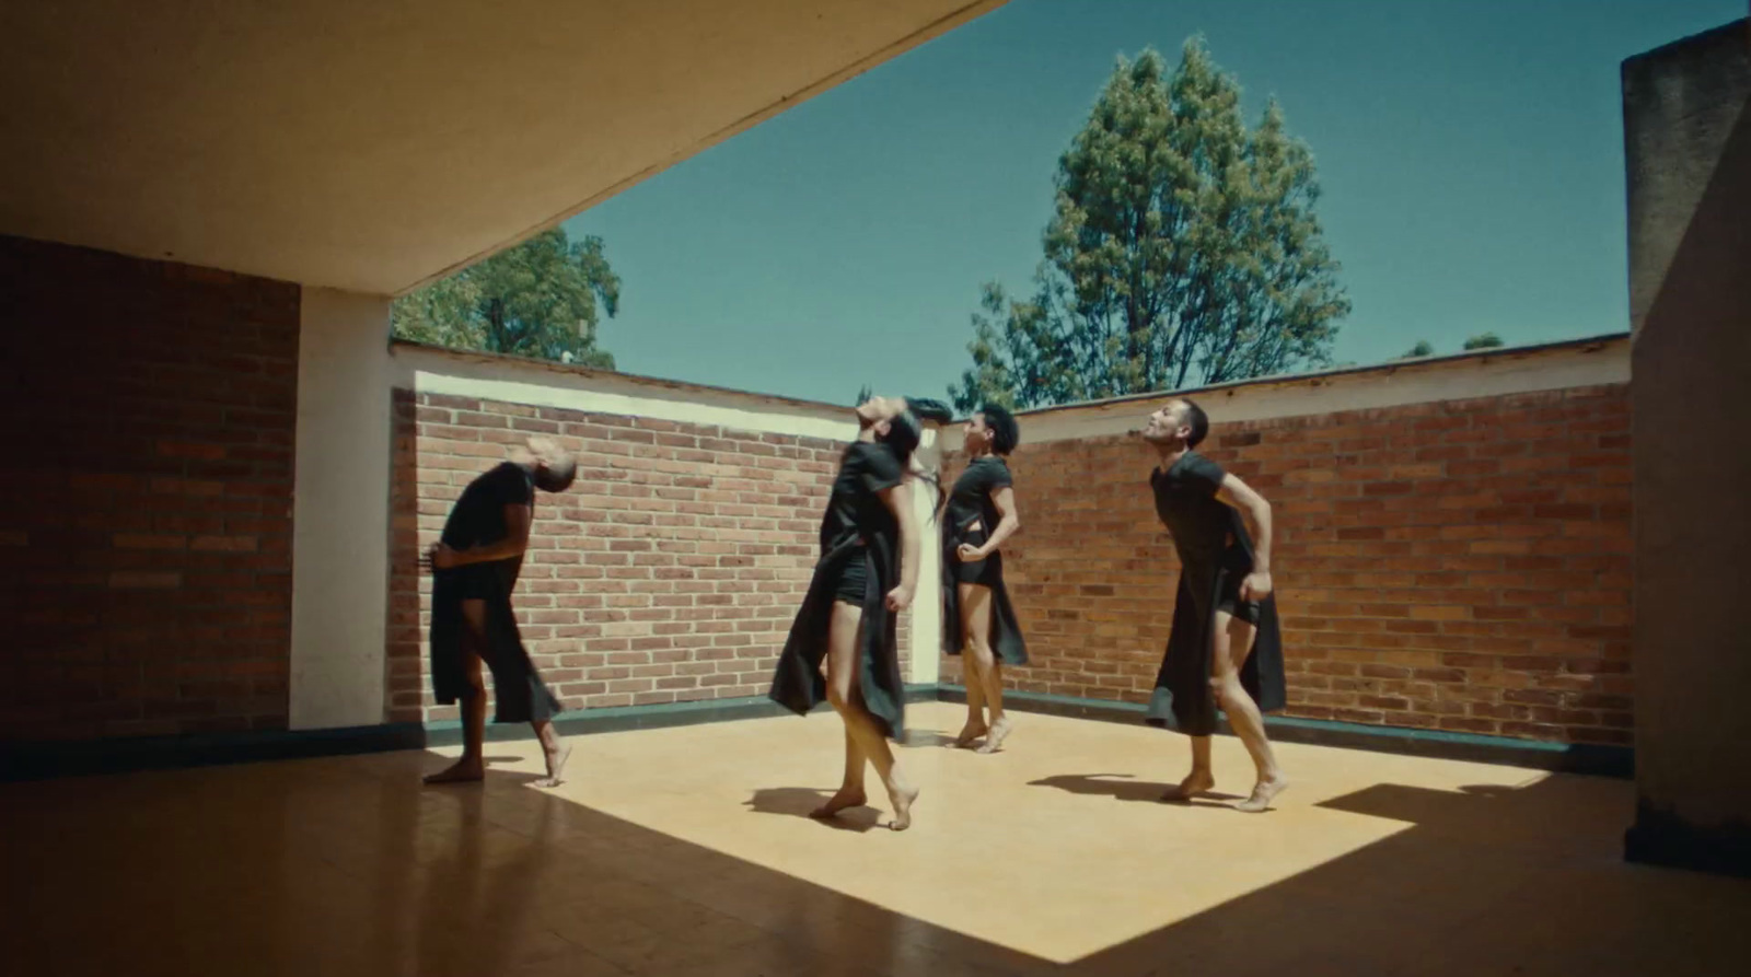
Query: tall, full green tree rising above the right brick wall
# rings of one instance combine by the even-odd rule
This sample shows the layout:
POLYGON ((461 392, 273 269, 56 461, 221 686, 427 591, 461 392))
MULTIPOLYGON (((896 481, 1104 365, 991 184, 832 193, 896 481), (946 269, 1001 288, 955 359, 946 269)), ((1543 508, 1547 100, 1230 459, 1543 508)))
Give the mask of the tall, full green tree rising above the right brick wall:
POLYGON ((1028 299, 988 284, 949 389, 1042 406, 1220 383, 1331 361, 1350 303, 1313 205, 1304 144, 1273 100, 1259 124, 1199 39, 1171 74, 1119 60, 1058 161, 1028 299))

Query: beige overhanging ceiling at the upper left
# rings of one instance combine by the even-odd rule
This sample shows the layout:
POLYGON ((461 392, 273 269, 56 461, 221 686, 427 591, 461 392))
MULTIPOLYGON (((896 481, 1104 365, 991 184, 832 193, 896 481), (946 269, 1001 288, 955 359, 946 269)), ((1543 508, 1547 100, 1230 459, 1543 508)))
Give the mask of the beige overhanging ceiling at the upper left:
POLYGON ((1002 4, 0 4, 0 233, 401 292, 1002 4))

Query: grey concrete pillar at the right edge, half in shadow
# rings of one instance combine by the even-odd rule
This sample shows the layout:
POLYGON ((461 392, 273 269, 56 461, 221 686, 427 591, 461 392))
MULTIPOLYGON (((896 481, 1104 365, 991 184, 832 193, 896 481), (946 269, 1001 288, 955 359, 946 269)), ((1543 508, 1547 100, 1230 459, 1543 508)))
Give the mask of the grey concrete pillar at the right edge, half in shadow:
POLYGON ((1751 21, 1623 63, 1635 861, 1751 875, 1751 21))

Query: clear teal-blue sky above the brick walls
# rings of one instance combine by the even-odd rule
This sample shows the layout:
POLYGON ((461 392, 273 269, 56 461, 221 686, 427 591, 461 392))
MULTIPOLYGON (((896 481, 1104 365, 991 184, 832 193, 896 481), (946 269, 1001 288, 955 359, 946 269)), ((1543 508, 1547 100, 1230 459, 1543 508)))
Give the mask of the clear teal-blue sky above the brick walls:
POLYGON ((1030 291, 1058 156, 1119 54, 1203 33, 1315 156, 1340 362, 1628 327, 1623 58, 1746 0, 1012 0, 567 221, 620 369, 942 397, 979 285, 1030 291))

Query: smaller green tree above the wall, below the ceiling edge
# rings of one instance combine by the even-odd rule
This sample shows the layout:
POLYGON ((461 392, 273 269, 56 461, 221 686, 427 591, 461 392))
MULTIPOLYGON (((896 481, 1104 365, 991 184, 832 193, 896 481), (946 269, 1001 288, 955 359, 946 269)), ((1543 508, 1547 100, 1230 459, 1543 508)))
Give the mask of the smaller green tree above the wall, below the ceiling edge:
POLYGON ((613 354, 595 348, 595 326, 618 308, 620 277, 602 238, 573 242, 553 228, 401 296, 390 326, 422 343, 613 369, 613 354))

